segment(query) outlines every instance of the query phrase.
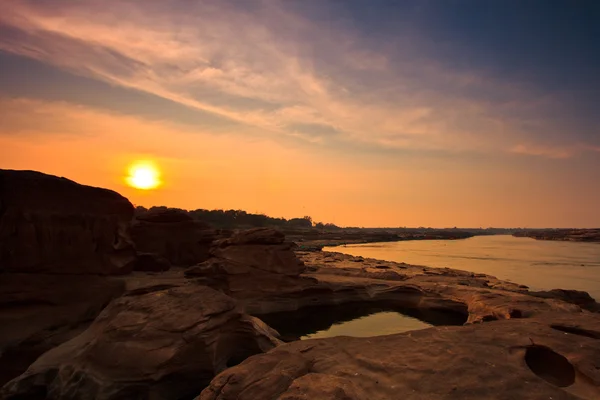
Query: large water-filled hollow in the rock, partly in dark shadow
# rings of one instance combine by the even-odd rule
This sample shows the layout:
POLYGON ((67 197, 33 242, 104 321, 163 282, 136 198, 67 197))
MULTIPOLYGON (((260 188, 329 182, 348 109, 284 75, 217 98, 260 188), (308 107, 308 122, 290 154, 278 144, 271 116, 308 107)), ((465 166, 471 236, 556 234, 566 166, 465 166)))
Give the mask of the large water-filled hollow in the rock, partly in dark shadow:
POLYGON ((390 335, 437 325, 463 325, 467 315, 450 310, 406 309, 389 304, 346 303, 309 306, 257 315, 290 342, 334 336, 390 335))

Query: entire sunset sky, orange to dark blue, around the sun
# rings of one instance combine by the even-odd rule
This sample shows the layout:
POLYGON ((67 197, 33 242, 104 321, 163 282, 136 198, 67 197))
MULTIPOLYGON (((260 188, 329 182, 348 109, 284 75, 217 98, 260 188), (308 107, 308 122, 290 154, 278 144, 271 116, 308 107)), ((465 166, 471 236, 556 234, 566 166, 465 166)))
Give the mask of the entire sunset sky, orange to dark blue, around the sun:
POLYGON ((341 226, 600 226, 595 0, 0 8, 0 168, 341 226))

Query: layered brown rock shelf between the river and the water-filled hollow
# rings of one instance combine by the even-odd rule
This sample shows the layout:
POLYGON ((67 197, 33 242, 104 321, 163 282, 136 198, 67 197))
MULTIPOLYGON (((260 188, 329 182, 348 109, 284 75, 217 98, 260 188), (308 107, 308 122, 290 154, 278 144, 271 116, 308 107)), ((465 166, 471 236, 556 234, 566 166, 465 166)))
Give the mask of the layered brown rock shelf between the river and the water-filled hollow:
POLYGON ((230 294, 253 315, 352 302, 458 315, 472 324, 525 318, 550 311, 581 312, 576 304, 534 297, 493 276, 353 257, 297 252, 306 271, 298 277, 264 275, 261 283, 230 277, 230 294), (385 273, 382 273, 384 271, 385 273), (388 279, 388 278, 392 279, 388 279))

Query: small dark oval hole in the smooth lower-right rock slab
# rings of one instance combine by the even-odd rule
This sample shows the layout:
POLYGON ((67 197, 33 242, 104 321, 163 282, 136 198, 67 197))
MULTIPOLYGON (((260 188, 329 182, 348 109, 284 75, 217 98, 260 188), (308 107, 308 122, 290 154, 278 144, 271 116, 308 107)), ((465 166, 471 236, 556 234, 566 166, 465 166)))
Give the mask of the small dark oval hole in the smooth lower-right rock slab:
POLYGON ((545 381, 567 387, 575 383, 575 368, 566 357, 545 346, 529 346, 525 362, 531 371, 545 381))

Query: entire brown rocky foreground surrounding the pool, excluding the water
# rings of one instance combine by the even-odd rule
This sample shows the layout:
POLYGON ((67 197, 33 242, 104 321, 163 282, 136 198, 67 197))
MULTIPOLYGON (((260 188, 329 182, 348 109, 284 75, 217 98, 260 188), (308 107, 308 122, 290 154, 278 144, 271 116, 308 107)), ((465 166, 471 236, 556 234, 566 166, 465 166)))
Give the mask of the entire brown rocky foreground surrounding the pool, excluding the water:
POLYGON ((2 399, 600 398, 587 293, 134 219, 115 192, 36 172, 0 171, 0 205, 2 399), (340 304, 438 326, 284 343, 261 320, 340 304))

